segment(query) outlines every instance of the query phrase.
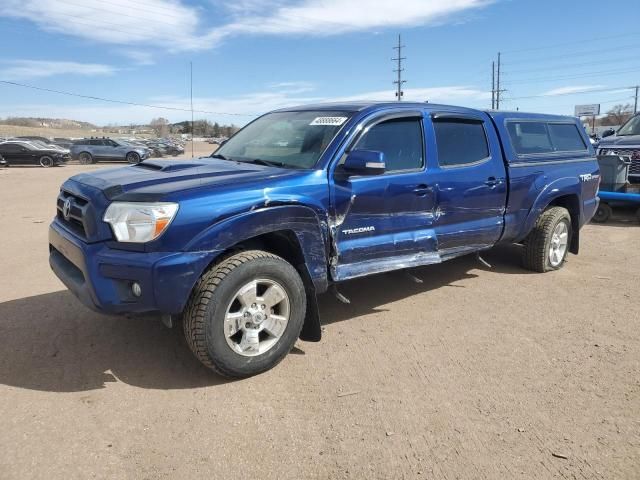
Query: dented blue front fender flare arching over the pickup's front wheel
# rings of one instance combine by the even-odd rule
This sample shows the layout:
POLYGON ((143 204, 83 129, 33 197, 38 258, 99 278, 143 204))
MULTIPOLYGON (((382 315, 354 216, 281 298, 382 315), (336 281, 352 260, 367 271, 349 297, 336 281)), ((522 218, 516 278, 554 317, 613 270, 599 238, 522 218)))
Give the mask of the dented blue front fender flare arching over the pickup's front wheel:
POLYGON ((327 221, 303 205, 261 207, 225 218, 189 242, 187 251, 224 251, 243 241, 283 230, 292 231, 318 293, 327 289, 327 221))

